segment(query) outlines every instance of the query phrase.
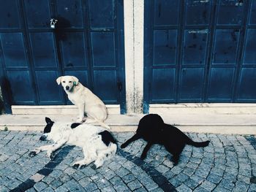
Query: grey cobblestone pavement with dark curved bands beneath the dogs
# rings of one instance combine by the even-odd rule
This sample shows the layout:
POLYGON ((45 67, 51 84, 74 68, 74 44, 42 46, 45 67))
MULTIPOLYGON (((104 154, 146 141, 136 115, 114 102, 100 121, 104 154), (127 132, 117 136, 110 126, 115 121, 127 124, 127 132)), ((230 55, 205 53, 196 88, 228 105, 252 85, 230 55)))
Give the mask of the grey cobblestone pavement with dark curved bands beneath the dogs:
MULTIPOLYGON (((73 169, 80 147, 63 147, 50 161, 29 152, 45 145, 39 132, 0 131, 0 191, 256 191, 256 139, 252 136, 189 134, 210 139, 205 148, 187 145, 178 166, 164 147, 154 145, 140 161, 138 140, 99 169, 73 169)), ((133 133, 114 133, 120 146, 133 133)))

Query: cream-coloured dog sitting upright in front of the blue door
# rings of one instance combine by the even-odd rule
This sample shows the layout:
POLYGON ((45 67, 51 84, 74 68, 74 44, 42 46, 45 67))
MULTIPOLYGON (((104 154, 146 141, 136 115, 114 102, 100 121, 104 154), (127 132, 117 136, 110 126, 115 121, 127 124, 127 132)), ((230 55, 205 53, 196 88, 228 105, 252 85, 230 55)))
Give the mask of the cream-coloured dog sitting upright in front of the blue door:
POLYGON ((86 113, 86 123, 99 123, 100 126, 110 128, 103 123, 108 117, 105 104, 89 88, 83 86, 77 77, 61 76, 57 78, 56 82, 58 85, 62 85, 69 100, 78 107, 79 122, 83 122, 84 114, 86 113))

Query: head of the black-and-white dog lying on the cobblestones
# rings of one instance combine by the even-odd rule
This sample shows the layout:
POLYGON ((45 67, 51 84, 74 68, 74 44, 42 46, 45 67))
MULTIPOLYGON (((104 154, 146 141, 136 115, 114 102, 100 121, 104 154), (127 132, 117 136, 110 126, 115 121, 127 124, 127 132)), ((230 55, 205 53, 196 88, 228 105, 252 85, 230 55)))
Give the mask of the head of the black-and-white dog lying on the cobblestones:
POLYGON ((60 123, 54 123, 50 118, 45 118, 46 126, 44 133, 39 138, 42 141, 48 141, 52 139, 54 142, 64 137, 64 131, 67 130, 65 125, 60 123))

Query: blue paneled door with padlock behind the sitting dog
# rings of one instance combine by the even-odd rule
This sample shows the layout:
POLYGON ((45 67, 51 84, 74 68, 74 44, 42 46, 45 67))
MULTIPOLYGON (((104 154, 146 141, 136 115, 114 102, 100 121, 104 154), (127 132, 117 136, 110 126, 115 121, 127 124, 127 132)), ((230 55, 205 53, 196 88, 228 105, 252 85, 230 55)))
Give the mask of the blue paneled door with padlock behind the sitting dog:
POLYGON ((10 104, 67 104, 74 75, 124 112, 123 4, 116 0, 0 0, 1 85, 10 104), (57 21, 50 28, 50 19, 57 21))

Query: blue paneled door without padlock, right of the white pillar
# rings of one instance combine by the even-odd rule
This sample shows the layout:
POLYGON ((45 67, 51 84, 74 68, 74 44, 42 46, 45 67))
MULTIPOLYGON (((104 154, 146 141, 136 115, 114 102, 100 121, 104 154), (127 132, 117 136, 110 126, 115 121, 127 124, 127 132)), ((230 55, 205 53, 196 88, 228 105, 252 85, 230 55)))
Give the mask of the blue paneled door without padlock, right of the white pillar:
POLYGON ((256 2, 145 1, 149 103, 256 102, 256 2))

